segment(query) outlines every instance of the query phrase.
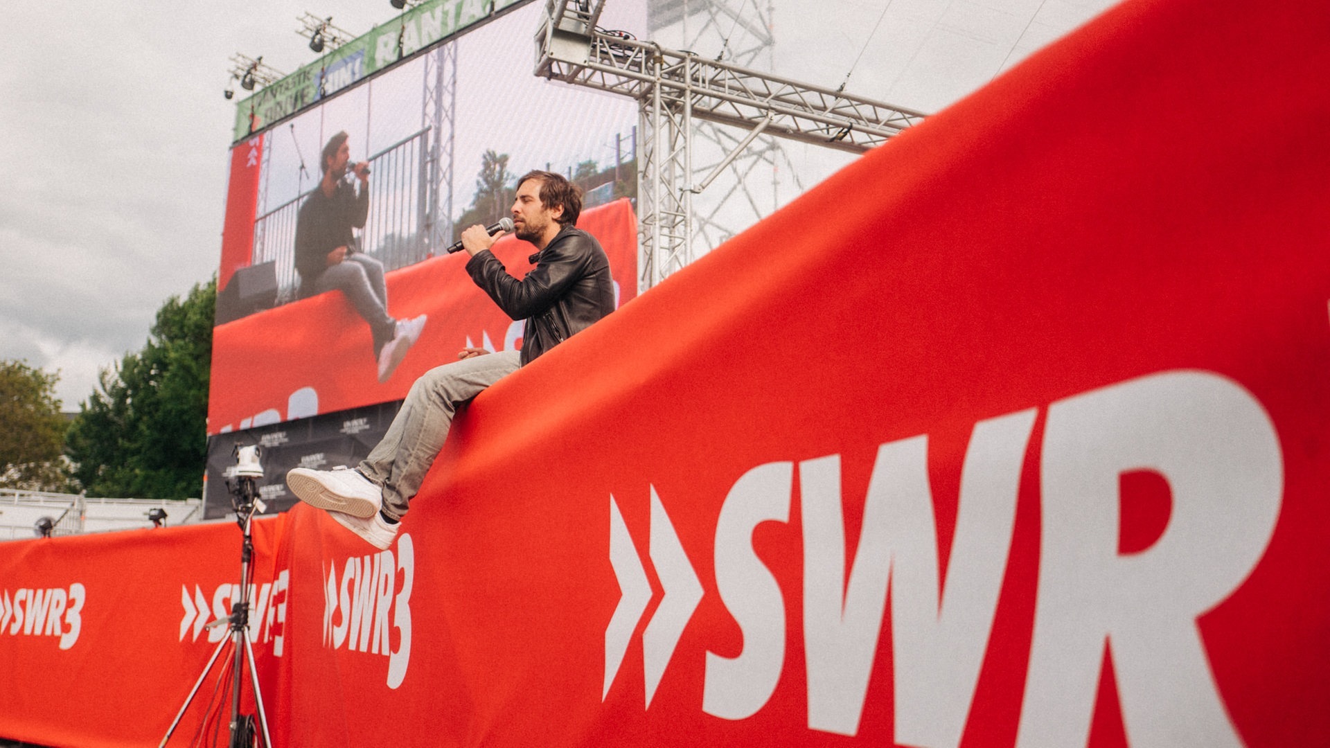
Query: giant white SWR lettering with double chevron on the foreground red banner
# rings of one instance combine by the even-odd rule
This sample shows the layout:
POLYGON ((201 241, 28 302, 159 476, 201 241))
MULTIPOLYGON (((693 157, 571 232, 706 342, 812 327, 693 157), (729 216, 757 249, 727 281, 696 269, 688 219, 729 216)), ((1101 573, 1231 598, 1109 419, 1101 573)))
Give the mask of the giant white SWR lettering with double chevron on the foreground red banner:
MULTIPOLYGON (((799 462, 811 729, 858 732, 890 586, 895 740, 959 745, 1036 417, 1029 409, 975 425, 946 586, 926 435, 878 449, 849 567, 841 458, 799 462)), ((1196 620, 1242 584, 1274 531, 1283 458, 1265 409, 1218 374, 1141 377, 1048 406, 1040 454, 1039 588, 1017 745, 1085 744, 1105 646, 1132 745, 1242 745, 1196 620), (1120 554, 1119 476, 1137 470, 1168 482, 1172 514, 1150 547, 1120 554)), ((781 680, 785 600, 751 535, 759 523, 789 520, 793 480, 793 462, 757 466, 734 483, 717 518, 716 591, 743 650, 734 657, 706 652, 701 708, 709 715, 746 719, 781 680)), ((621 599, 605 630, 602 699, 653 596, 613 496, 609 510, 621 599)), ((654 488, 650 519, 650 558, 665 595, 642 634, 648 705, 705 594, 654 488)))

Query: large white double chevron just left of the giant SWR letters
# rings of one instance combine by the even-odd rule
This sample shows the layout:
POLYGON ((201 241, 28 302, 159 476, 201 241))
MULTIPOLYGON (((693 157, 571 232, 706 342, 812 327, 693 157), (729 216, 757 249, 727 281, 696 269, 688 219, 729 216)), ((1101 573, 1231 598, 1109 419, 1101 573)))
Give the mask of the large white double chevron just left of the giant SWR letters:
MULTIPOLYGON (((652 620, 648 622, 646 630, 642 631, 642 669, 646 673, 648 707, 674 655, 674 647, 684 635, 684 628, 702 602, 702 583, 678 542, 678 534, 674 532, 674 524, 665 514, 665 506, 656 495, 654 486, 649 543, 648 552, 665 595, 652 620)), ((609 496, 609 564, 614 568, 621 598, 614 615, 609 619, 609 626, 605 627, 605 687, 601 691, 601 701, 609 695, 609 687, 614 683, 618 667, 628 652, 628 643, 637 630, 637 622, 646 612, 653 596, 641 555, 633 544, 632 535, 628 534, 628 526, 614 496, 609 496)))

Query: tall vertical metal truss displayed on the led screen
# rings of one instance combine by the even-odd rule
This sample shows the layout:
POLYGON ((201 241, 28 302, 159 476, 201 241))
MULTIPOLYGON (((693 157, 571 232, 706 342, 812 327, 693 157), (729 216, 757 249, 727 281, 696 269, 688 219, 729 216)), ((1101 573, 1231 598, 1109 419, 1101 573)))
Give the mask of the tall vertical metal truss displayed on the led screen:
POLYGON ((426 254, 452 244, 454 132, 458 106, 458 45, 442 44, 424 56, 424 108, 420 128, 430 128, 426 189, 419 222, 426 254))

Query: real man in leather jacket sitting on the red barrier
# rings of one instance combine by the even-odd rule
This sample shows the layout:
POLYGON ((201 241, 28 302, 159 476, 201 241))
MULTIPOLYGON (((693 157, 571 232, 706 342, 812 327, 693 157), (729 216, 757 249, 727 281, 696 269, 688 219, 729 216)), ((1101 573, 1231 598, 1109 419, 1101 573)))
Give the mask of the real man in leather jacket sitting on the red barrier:
POLYGON ((467 349, 460 361, 427 371, 407 393, 383 441, 354 470, 286 474, 305 503, 387 550, 407 504, 448 438, 460 403, 525 366, 614 309, 609 260, 595 237, 575 228, 581 190, 560 174, 531 172, 517 182, 512 221, 517 238, 536 245, 536 268, 519 281, 489 252, 497 237, 475 225, 462 233, 467 273, 513 319, 525 318, 521 353, 467 349))

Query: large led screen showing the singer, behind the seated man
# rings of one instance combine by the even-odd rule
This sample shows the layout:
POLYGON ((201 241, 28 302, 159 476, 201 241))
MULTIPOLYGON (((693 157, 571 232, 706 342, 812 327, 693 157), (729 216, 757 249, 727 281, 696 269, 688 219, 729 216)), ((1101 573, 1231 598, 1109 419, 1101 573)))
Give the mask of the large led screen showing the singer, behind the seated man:
MULTIPOLYGON (((234 145, 210 435, 398 401, 462 347, 520 346, 521 322, 471 282, 466 254, 447 246, 463 228, 505 216, 516 178, 531 169, 584 188, 579 228, 609 254, 620 303, 636 294, 637 102, 535 77, 543 12, 540 3, 509 8, 234 145), (336 161, 338 133, 348 161, 370 172, 363 186, 346 176, 368 196, 348 252, 384 268, 391 317, 426 317, 386 381, 371 323, 344 293, 302 287, 297 272, 302 232, 321 230, 313 218, 302 225, 301 210, 323 165, 336 161)), ((511 237, 495 248, 517 277, 531 252, 511 237)))

